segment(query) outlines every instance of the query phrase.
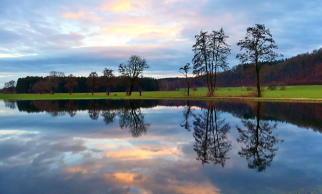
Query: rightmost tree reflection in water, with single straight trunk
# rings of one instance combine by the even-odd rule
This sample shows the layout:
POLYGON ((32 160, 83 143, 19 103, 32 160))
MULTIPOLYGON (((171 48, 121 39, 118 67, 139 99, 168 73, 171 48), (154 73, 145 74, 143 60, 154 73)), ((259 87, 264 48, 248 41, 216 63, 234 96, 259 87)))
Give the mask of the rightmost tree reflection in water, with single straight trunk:
POLYGON ((282 141, 272 133, 276 124, 261 121, 261 105, 262 103, 257 103, 256 121, 243 120, 242 123, 247 128, 245 130, 237 127, 239 132, 237 141, 243 144, 238 154, 246 158, 249 168, 257 169, 258 172, 271 165, 278 150, 277 143, 282 141))

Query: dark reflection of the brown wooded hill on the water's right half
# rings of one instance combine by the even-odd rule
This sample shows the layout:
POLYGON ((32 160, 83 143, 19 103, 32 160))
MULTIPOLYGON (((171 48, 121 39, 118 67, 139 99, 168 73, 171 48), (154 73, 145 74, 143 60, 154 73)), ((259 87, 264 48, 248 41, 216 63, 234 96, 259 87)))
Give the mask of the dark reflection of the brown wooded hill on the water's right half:
MULTIPOLYGON (((165 106, 185 106, 186 101, 160 101, 165 106)), ((207 108, 203 101, 190 101, 190 106, 207 108)), ((243 119, 255 118, 255 102, 217 102, 219 111, 229 112, 243 119)), ((262 119, 286 121, 300 127, 311 127, 322 132, 322 105, 310 103, 263 103, 262 119)))

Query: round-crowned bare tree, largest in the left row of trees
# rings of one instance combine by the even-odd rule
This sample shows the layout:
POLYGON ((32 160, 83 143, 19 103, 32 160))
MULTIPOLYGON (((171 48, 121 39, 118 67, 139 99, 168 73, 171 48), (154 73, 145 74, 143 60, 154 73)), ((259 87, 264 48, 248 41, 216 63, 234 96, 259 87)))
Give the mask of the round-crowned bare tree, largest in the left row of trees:
POLYGON ((142 76, 144 69, 149 68, 146 60, 140 56, 133 55, 130 57, 127 64, 120 64, 119 72, 127 79, 128 90, 127 95, 131 96, 135 84, 139 77, 142 76))

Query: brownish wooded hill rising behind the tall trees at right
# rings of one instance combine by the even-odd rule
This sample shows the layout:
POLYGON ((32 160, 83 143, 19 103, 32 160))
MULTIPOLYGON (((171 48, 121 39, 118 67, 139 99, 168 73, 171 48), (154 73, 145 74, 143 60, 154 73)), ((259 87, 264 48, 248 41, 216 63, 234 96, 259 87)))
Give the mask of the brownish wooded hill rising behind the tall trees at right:
MULTIPOLYGON (((253 64, 241 64, 231 70, 218 73, 218 86, 254 86, 256 83, 253 64)), ((202 77, 192 80, 192 87, 203 86, 202 77)), ((321 85, 322 48, 312 53, 262 64, 261 83, 263 85, 321 85)), ((182 78, 159 80, 161 90, 184 87, 182 78)))

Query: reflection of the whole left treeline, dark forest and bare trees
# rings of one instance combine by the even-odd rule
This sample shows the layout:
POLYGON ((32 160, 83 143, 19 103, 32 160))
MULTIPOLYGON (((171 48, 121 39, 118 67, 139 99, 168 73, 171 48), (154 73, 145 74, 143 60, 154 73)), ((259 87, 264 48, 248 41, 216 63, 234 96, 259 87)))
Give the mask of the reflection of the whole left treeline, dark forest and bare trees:
MULTIPOLYGON (((15 108, 15 104, 7 101, 6 106, 15 108)), ((77 111, 88 111, 92 120, 102 117, 105 124, 111 124, 118 117, 120 128, 128 129, 133 137, 139 137, 147 132, 149 126, 145 123, 141 108, 151 108, 157 101, 124 101, 124 100, 65 100, 65 101, 18 101, 20 111, 42 112, 46 111, 52 116, 69 114, 74 117, 77 111)))

